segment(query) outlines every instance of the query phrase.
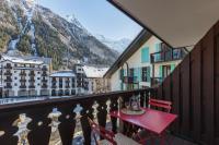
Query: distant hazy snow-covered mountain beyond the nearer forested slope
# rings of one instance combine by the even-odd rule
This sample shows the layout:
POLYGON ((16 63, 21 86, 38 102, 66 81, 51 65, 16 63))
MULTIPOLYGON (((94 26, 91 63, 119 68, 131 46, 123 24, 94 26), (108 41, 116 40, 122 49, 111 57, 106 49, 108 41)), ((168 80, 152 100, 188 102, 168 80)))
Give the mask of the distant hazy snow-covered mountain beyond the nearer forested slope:
POLYGON ((119 53, 122 53, 128 47, 128 45, 131 43, 131 40, 128 39, 128 38, 122 38, 122 39, 118 39, 118 40, 114 40, 114 39, 111 39, 111 38, 106 38, 106 37, 104 37, 103 35, 100 35, 100 34, 96 34, 94 36, 101 43, 103 43, 104 45, 106 45, 111 49, 118 51, 119 53))

